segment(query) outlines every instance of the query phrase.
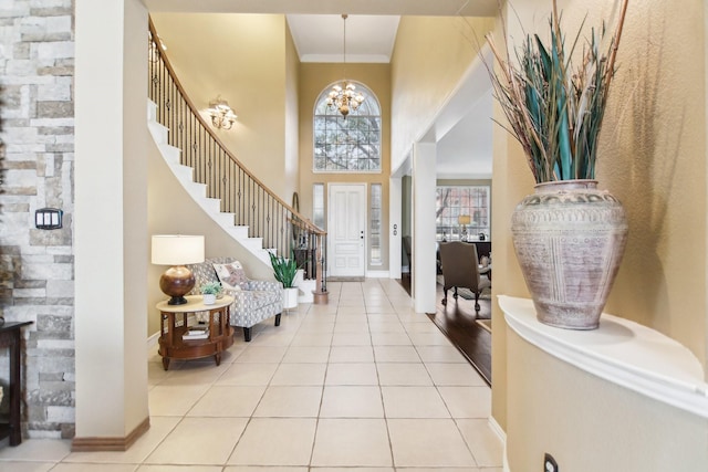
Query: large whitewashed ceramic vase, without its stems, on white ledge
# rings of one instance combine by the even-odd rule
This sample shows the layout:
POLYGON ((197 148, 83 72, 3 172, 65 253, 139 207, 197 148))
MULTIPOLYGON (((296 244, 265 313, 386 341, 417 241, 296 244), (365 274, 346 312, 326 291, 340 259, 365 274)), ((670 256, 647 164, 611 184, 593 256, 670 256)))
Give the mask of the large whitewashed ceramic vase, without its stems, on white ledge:
POLYGON ((627 240, 622 203, 596 180, 535 186, 511 219, 514 250, 541 323, 595 329, 627 240))

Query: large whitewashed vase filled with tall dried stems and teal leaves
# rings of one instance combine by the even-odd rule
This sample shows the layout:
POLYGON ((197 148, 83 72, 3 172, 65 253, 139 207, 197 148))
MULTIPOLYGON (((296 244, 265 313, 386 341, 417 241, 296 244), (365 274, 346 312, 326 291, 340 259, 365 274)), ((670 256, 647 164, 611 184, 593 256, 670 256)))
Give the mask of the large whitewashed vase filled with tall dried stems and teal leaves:
POLYGON ((502 54, 487 38, 494 97, 537 182, 513 212, 514 249, 538 318, 553 326, 597 327, 624 252, 624 209, 597 189, 595 162, 626 8, 612 36, 592 29, 582 51, 583 25, 566 48, 556 0, 548 42, 528 34, 502 54))

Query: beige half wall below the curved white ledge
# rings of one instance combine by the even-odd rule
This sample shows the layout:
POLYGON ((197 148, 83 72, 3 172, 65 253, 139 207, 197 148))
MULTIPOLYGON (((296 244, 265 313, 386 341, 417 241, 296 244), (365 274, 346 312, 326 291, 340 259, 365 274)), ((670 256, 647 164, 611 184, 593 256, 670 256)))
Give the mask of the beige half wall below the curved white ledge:
POLYGON ((708 420, 611 385, 509 333, 507 453, 513 472, 699 472, 708 420))

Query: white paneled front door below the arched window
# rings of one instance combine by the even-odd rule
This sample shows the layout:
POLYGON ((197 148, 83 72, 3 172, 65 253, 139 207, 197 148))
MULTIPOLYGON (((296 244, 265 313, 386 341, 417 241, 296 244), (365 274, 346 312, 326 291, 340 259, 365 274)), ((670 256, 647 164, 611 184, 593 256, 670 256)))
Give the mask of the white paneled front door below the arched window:
POLYGON ((363 277, 366 269, 366 183, 330 183, 327 261, 335 277, 363 277))

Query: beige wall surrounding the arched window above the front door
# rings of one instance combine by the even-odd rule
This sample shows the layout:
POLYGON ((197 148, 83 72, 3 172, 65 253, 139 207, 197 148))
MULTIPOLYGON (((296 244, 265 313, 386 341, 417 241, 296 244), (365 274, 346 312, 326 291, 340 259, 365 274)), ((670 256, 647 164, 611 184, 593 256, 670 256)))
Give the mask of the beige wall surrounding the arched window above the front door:
MULTIPOLYGON (((300 210, 312 218, 312 185, 330 182, 366 182, 382 185, 382 265, 369 265, 369 271, 388 270, 388 177, 391 175, 391 67, 388 64, 346 64, 347 78, 366 85, 378 98, 382 112, 382 172, 381 174, 321 174, 312 171, 313 132, 312 113, 325 88, 341 81, 342 64, 302 63, 300 65, 300 210)), ((367 207, 369 191, 367 187, 367 207)), ((368 214, 368 212, 367 212, 368 214)), ((368 227, 367 227, 368 231, 368 227)), ((366 238, 369 241, 369 238, 366 238)), ((367 250, 368 254, 368 250, 367 250)))

